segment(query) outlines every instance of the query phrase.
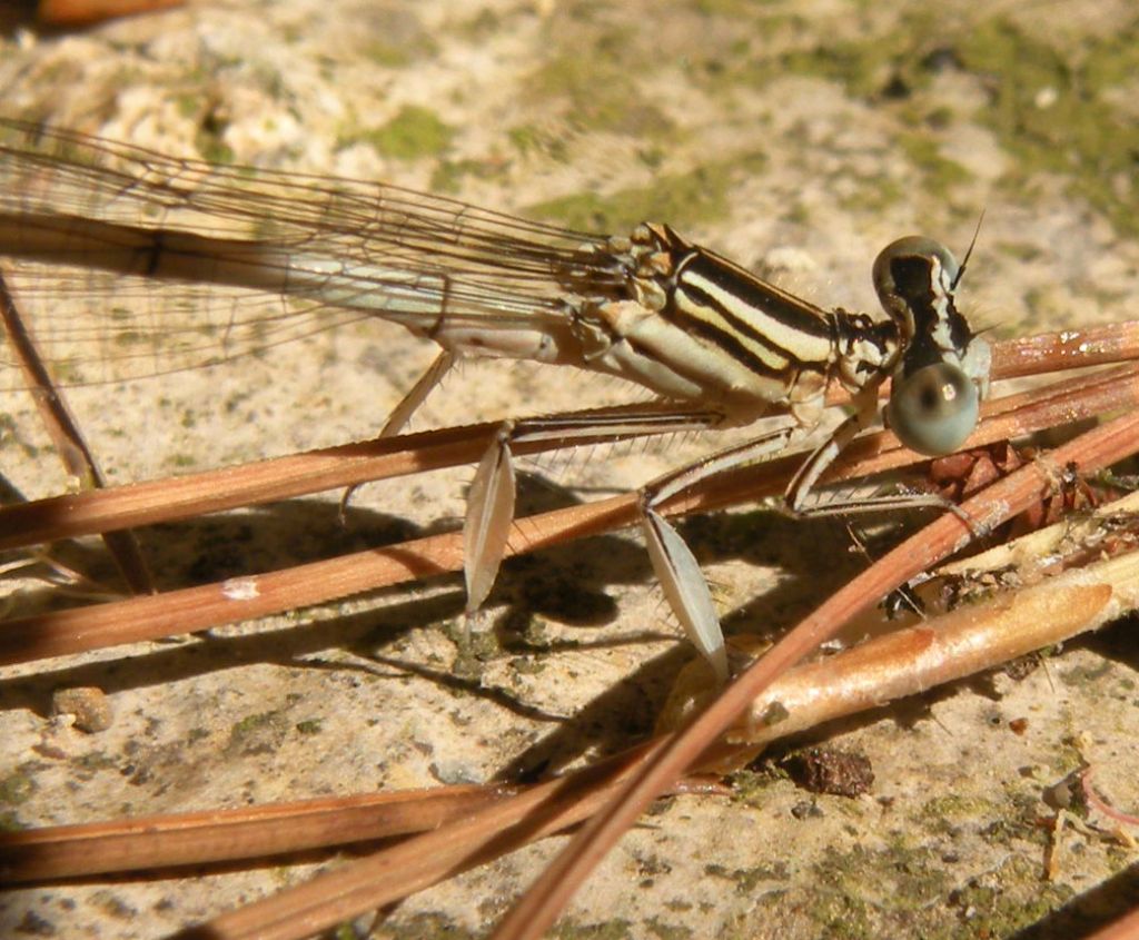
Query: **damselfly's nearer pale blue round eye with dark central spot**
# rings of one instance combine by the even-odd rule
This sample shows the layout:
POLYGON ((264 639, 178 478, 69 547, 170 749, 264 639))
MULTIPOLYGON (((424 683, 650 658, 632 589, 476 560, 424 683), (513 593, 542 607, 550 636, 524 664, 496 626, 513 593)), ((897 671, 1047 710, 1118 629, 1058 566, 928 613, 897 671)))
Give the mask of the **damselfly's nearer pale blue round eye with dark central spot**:
POLYGON ((981 395, 957 366, 924 366, 894 383, 886 423, 910 450, 926 457, 952 453, 973 433, 981 395))

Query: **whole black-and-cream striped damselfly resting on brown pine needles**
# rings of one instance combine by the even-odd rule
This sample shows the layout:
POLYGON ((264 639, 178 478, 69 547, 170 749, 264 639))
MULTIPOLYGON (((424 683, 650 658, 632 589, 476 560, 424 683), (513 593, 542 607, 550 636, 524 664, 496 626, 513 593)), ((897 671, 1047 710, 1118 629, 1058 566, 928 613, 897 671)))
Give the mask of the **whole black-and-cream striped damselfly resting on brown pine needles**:
MULTIPOLYGON (((63 283, 98 270, 123 285, 141 277, 183 292, 235 292, 213 320, 192 312, 146 319, 106 296, 93 327, 41 330, 43 354, 63 369, 64 384, 84 381, 92 329, 117 348, 108 354, 122 357, 120 341, 129 341, 128 350, 144 351, 140 362, 157 354, 177 368, 379 317, 443 350, 390 418, 390 433, 465 355, 574 366, 653 392, 649 404, 503 424, 468 500, 469 611, 493 583, 514 517, 511 442, 723 427, 773 409, 810 431, 837 383, 852 395, 852 412, 787 490, 792 510, 810 512, 811 488, 875 419, 887 378, 887 423, 928 455, 964 442, 988 384, 988 345, 954 305, 964 265, 926 238, 902 238, 879 254, 874 280, 887 316, 872 318, 814 306, 665 224, 642 223, 628 237, 588 235, 382 183, 216 166, 7 120, 0 258, 51 265, 63 283)), ((781 450, 792 433, 729 448, 641 491, 657 577, 721 676, 727 659, 707 587, 657 507, 781 450)))

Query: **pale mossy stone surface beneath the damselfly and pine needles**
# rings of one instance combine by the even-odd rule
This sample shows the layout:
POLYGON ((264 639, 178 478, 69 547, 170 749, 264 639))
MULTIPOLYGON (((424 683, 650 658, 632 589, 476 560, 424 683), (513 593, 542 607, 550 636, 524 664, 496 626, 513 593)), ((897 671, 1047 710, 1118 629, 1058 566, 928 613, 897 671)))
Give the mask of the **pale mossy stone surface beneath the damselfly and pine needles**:
MULTIPOLYGON (((13 32, 0 108, 572 227, 661 219, 826 306, 874 309, 869 268, 884 244, 923 231, 964 251, 984 212, 961 302, 1005 337, 1139 309, 1137 33, 1122 0, 1063 14, 1034 2, 198 2, 83 33, 13 32)), ((74 390, 74 404, 122 483, 368 438, 432 355, 398 327, 357 325, 229 369, 74 390)), ((473 363, 417 427, 630 394, 473 363)), ((32 460, 44 441, 30 406, 7 397, 2 410, 5 473, 30 494, 59 491, 62 472, 32 460)), ((523 507, 625 489, 710 446, 544 460, 523 507)), ((236 577, 453 525, 469 477, 367 487, 346 530, 334 493, 162 526, 145 543, 163 587, 236 577)), ((744 508, 683 532, 740 631, 792 624, 859 570, 838 523, 744 508)), ((91 542, 71 561, 99 553, 91 542)), ((16 603, 35 595, 26 586, 16 603)), ((691 655, 628 533, 508 565, 487 618, 498 643, 475 678, 452 670, 461 606, 459 580, 439 579, 6 669, 0 809, 13 825, 49 825, 557 770, 646 734, 691 655), (60 686, 101 688, 113 727, 52 722, 60 686)), ((1082 753, 1136 806, 1132 635, 1074 644, 1019 682, 962 684, 827 729, 869 759, 866 795, 760 775, 731 800, 665 801, 556 935, 1010 937, 1036 923, 1073 935, 1081 916, 1095 923, 1134 897, 1134 856, 1073 835, 1059 877, 1042 882, 1042 794, 1082 753), (1057 913, 1068 902, 1075 919, 1057 913)), ((375 935, 478 934, 559 844, 426 890, 375 935)), ((158 937, 312 870, 15 891, 0 897, 0 934, 158 937)))

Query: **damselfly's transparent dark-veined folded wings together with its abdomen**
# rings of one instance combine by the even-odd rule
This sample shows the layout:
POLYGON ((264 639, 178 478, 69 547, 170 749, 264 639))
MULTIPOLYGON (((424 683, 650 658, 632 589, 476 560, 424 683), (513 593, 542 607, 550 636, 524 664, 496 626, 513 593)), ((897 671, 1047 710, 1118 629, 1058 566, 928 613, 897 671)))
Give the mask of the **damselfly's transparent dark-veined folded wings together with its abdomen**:
POLYGON ((618 291, 608 244, 383 183, 0 118, 0 265, 63 384, 211 365, 370 317, 426 335, 441 314, 552 328, 575 296, 618 291))

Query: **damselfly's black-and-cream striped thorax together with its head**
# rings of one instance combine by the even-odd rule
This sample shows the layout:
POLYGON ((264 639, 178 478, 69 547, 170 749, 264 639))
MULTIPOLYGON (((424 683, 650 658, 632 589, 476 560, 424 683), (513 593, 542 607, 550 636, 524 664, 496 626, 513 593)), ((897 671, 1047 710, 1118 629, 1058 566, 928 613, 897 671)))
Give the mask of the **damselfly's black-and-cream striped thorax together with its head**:
POLYGON ((891 423, 923 453, 956 450, 976 423, 988 346, 954 305, 961 269, 932 239, 902 238, 875 262, 884 321, 822 310, 665 224, 642 224, 608 251, 625 296, 576 312, 589 368, 720 407, 732 422, 781 406, 803 425, 818 420, 833 383, 857 394, 893 377, 891 423))

